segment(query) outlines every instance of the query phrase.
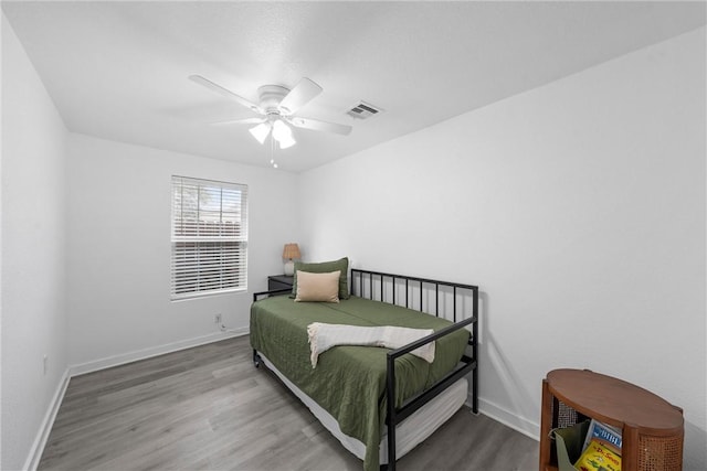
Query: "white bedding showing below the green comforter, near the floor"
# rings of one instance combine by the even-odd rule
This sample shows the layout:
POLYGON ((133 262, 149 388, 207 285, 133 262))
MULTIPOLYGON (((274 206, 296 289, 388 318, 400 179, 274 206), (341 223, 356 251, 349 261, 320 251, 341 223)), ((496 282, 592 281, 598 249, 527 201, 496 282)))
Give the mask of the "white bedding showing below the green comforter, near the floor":
MULTIPOLYGON (((279 379, 302 400, 312 414, 319 419, 321 425, 331 432, 344 448, 349 450, 360 460, 366 456, 366 446, 358 439, 349 437, 339 428, 336 419, 325 409, 303 393, 294 383, 277 371, 275 366, 262 353, 265 365, 272 370, 279 379)), ((395 456, 397 459, 404 457, 410 450, 430 437, 442 424, 447 421, 450 417, 456 413, 466 402, 468 394, 468 382, 462 378, 446 388, 437 397, 422 406, 413 415, 408 417, 402 424, 395 428, 395 456)), ((388 463, 388 432, 383 430, 380 443, 380 463, 388 463)))

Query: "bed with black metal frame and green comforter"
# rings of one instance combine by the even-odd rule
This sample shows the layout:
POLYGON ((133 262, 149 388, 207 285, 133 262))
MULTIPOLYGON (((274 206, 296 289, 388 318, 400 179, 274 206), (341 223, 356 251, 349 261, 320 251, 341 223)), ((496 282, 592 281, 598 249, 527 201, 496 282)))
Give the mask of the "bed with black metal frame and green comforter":
POLYGON ((366 471, 381 463, 394 470, 397 459, 466 403, 468 388, 478 411, 478 288, 360 269, 350 270, 349 283, 341 272, 339 302, 296 302, 289 290, 255 293, 253 361, 272 370, 366 471), (434 332, 394 350, 335 346, 313 367, 307 327, 314 322, 434 332), (432 363, 410 353, 432 342, 432 363))

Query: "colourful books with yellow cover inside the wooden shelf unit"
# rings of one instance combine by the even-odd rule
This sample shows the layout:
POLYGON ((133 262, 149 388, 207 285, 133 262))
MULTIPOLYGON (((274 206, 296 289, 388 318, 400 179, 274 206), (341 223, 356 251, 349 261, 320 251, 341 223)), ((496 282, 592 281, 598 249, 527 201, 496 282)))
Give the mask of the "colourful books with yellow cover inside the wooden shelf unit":
POLYGON ((579 471, 621 471, 621 430, 592 419, 574 468, 579 471))

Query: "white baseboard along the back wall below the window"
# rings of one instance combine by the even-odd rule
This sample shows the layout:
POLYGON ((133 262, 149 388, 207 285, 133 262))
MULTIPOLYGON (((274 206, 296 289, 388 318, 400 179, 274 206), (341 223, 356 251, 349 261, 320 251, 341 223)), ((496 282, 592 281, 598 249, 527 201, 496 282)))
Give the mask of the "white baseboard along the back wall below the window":
POLYGON ((163 355, 165 353, 177 352, 179 350, 191 349, 207 343, 218 342, 220 340, 241 336, 249 333, 249 328, 231 329, 226 332, 217 332, 194 339, 181 340, 179 342, 166 343, 163 345, 150 346, 149 349, 136 350, 119 355, 107 356, 105 358, 86 362, 70 367, 71 376, 78 376, 86 373, 97 372, 99 370, 123 365, 126 363, 146 360, 152 356, 163 355))

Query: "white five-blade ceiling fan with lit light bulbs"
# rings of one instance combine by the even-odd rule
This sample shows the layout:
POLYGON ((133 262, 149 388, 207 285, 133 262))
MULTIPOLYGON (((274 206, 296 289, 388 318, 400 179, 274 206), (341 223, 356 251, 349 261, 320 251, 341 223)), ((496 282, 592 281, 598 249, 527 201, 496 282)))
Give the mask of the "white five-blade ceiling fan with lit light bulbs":
POLYGON ((219 122, 224 125, 256 125, 251 128, 250 131, 260 143, 264 143, 267 136, 272 132, 273 139, 279 143, 281 149, 294 146, 296 141, 288 125, 296 128, 334 132, 342 136, 347 136, 352 129, 351 126, 327 122, 319 119, 305 118, 295 115, 299 108, 321 93, 321 87, 307 77, 302 78, 302 81, 299 81, 292 90, 279 85, 263 85, 257 89, 257 104, 234 94, 201 75, 190 75, 189 79, 218 93, 219 95, 233 99, 246 108, 250 108, 252 111, 261 115, 253 118, 232 119, 219 122))

